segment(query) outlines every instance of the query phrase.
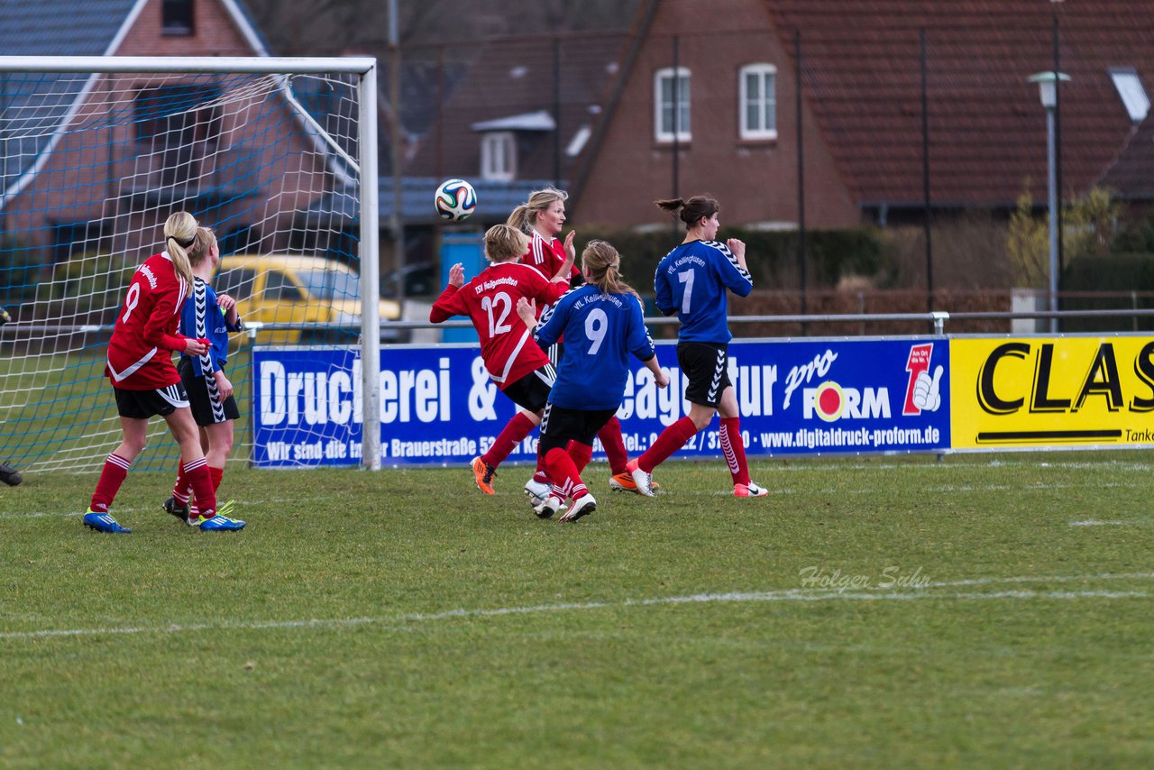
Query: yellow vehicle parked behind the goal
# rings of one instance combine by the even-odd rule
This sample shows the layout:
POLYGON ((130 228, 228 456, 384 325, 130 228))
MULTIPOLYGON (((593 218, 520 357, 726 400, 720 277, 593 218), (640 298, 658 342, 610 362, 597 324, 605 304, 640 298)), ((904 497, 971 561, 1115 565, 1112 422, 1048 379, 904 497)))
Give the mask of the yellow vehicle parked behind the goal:
MULTIPOLYGON (((222 257, 212 289, 233 297, 245 321, 300 327, 258 331, 258 344, 354 344, 360 336, 360 276, 342 262, 320 256, 230 254, 222 257)), ((383 322, 398 320, 400 305, 382 299, 379 313, 381 338, 397 339, 397 330, 384 328, 383 322)))

